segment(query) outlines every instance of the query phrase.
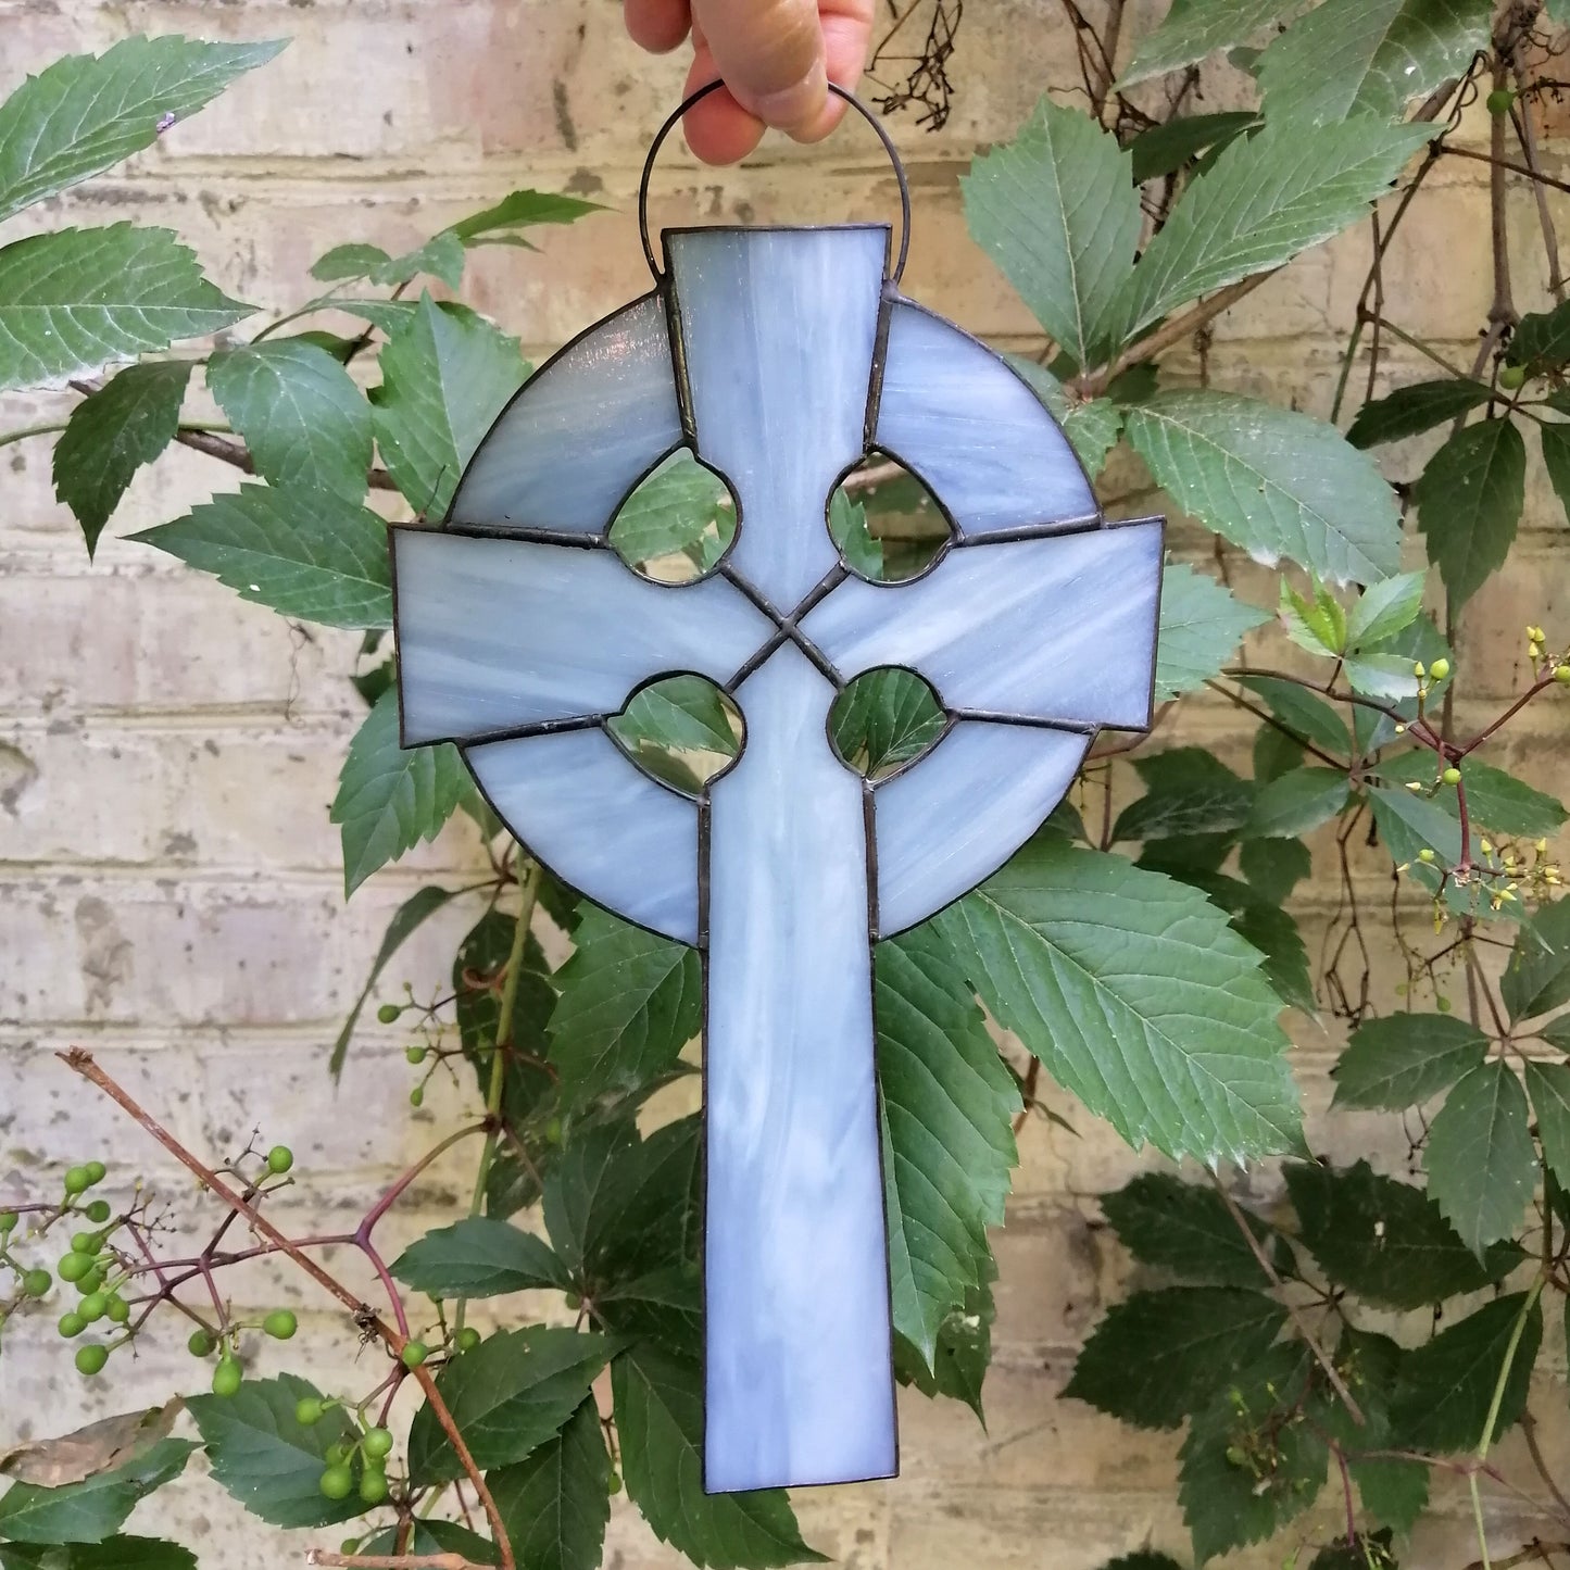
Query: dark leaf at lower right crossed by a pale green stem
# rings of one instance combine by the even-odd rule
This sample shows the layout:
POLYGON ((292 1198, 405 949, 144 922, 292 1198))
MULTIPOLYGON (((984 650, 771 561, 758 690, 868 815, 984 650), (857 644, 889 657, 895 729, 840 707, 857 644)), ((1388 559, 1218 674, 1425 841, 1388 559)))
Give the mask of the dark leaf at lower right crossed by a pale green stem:
POLYGON ((1515 1427, 1542 1339, 1542 1303, 1534 1300, 1528 1309, 1528 1294, 1512 1292, 1408 1352, 1391 1411, 1400 1446, 1440 1454, 1476 1449, 1512 1342, 1493 1438, 1515 1427))

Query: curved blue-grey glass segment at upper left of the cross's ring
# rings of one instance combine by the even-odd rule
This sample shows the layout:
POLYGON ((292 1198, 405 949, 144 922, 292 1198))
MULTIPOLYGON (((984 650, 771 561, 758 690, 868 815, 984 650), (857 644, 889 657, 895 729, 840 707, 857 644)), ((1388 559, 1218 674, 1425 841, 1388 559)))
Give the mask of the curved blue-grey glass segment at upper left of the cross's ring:
POLYGON ((531 377, 476 452, 449 517, 601 534, 680 440, 666 308, 645 295, 531 377))

